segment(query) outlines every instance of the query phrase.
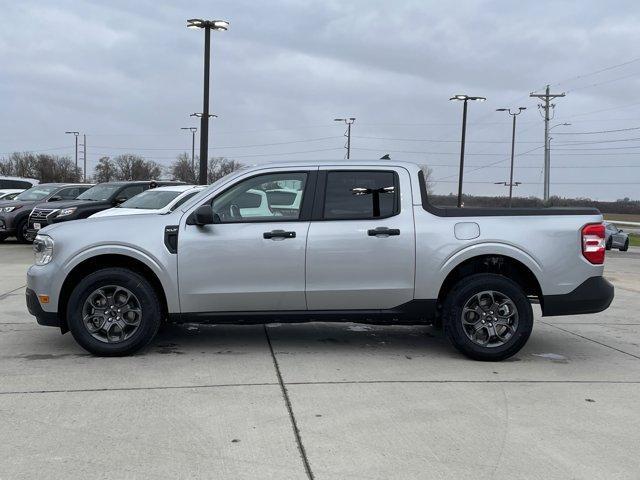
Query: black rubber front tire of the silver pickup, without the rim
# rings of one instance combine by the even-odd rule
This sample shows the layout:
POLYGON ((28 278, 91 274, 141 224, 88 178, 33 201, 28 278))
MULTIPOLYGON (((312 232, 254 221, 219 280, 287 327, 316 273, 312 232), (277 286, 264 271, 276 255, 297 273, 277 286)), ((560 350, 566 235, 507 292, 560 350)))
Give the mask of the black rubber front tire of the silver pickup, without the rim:
POLYGON ((71 292, 67 322, 73 338, 82 348, 99 356, 125 356, 144 348, 156 335, 162 322, 160 300, 152 285, 126 268, 105 268, 87 275, 71 292), (83 307, 89 295, 101 287, 118 286, 129 290, 139 301, 141 320, 131 337, 117 343, 96 339, 83 322, 83 307))

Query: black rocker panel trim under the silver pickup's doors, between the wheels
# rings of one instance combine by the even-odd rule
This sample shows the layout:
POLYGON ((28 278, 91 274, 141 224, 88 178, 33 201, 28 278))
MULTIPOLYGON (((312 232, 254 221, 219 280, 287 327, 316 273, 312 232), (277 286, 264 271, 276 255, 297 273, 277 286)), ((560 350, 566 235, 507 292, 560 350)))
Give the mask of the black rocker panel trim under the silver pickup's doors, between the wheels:
POLYGON ((411 300, 386 310, 288 310, 278 312, 172 313, 172 323, 219 323, 253 325, 271 322, 358 322, 373 324, 430 324, 436 317, 437 300, 411 300))

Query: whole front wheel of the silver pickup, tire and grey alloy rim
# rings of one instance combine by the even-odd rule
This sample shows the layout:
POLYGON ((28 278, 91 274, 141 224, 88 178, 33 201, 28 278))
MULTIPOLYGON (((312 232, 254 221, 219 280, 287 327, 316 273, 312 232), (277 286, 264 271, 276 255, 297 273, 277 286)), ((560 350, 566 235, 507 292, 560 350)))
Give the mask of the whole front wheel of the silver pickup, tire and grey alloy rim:
POLYGON ((145 347, 162 321, 152 285, 125 268, 87 275, 74 288, 67 308, 73 337, 94 355, 130 355, 145 347))

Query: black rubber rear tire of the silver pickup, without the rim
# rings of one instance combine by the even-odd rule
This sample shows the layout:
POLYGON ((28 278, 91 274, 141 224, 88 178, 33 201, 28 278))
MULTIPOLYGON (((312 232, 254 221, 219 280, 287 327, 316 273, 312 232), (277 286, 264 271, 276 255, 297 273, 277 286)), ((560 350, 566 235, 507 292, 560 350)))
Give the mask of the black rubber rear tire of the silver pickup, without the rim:
POLYGON ((461 353, 474 360, 493 362, 515 355, 527 343, 533 330, 533 310, 522 288, 513 280, 492 273, 479 273, 460 280, 447 294, 442 313, 449 341, 461 353), (467 301, 488 290, 508 297, 517 309, 518 324, 515 331, 498 346, 479 345, 467 336, 463 326, 462 311, 467 301))

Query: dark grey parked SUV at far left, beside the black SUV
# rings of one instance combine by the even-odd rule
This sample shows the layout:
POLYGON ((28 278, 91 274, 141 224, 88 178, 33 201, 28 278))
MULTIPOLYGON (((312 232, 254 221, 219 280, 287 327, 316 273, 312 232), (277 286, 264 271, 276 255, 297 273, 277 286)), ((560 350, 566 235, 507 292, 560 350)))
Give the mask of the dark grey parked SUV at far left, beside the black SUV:
POLYGON ((24 243, 33 241, 34 235, 27 231, 27 223, 29 213, 35 205, 73 200, 92 186, 77 183, 41 183, 25 190, 13 200, 0 202, 0 241, 7 237, 16 237, 24 243))

